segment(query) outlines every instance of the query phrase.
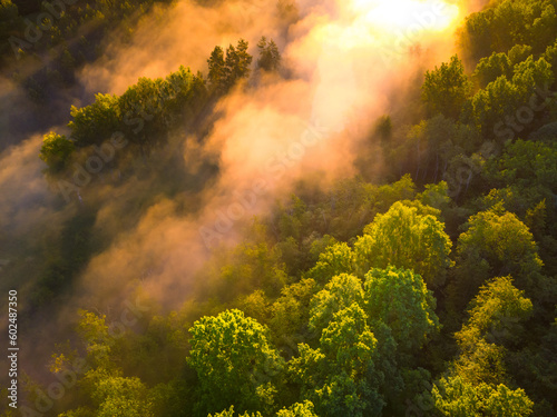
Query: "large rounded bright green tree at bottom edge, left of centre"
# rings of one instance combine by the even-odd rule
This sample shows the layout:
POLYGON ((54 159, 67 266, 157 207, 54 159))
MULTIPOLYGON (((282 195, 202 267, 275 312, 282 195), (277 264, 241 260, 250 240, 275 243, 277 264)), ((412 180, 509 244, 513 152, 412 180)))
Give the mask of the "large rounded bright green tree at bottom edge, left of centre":
POLYGON ((240 310, 202 317, 189 329, 187 363, 199 377, 199 413, 235 405, 242 411, 273 408, 272 383, 283 360, 267 341, 267 330, 240 310))

